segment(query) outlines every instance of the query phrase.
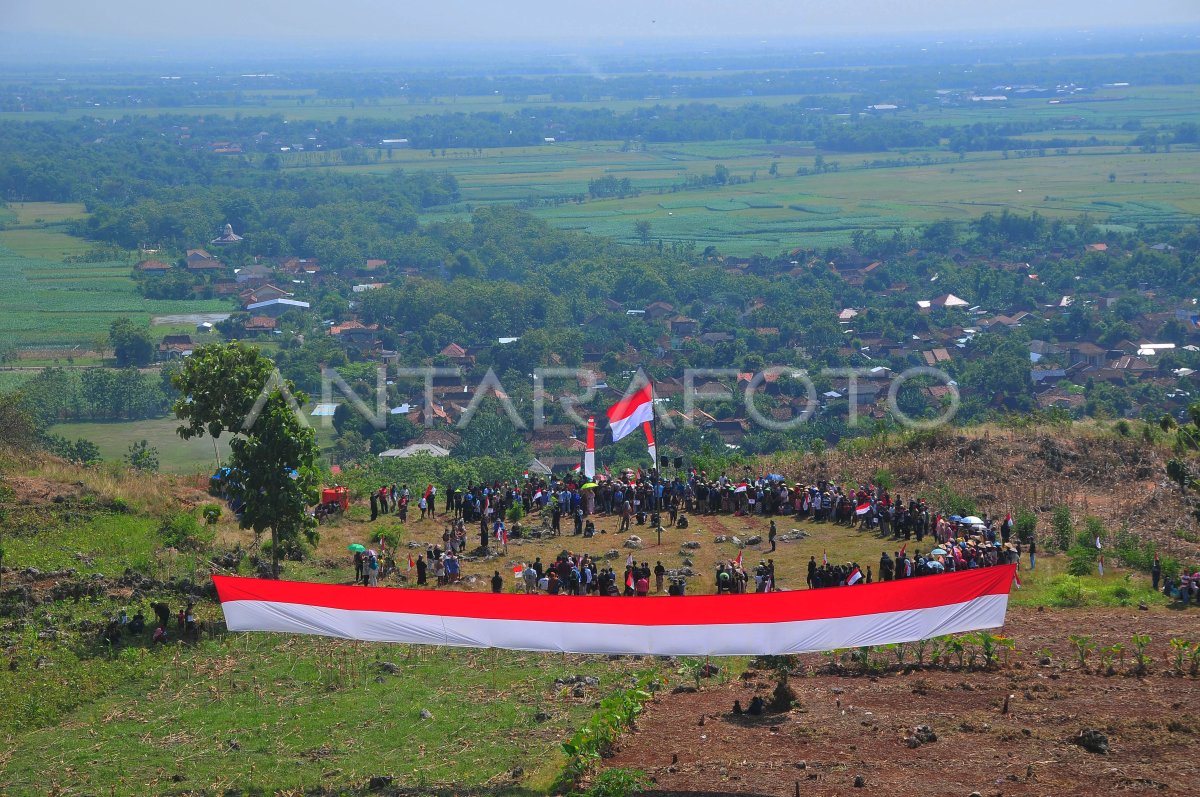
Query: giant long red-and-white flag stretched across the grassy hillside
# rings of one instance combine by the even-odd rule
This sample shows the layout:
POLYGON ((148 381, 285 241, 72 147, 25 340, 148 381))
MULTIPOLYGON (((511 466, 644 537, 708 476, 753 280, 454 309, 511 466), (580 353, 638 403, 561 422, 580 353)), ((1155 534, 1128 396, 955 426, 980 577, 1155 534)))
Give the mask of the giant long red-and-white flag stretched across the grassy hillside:
POLYGON ((548 653, 785 655, 1004 623, 1016 565, 804 589, 638 601, 212 576, 233 631, 548 653))

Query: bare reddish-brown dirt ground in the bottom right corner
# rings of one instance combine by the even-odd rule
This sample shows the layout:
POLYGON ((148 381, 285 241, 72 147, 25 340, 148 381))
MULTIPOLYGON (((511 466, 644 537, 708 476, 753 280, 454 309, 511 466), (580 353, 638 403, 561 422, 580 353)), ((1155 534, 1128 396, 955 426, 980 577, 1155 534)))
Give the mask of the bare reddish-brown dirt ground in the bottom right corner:
MULTIPOLYGON (((809 675, 791 678, 799 705, 785 714, 731 713, 734 700, 745 707, 768 696, 766 671, 660 695, 605 766, 642 769, 655 781, 650 793, 680 797, 1194 791, 1200 682, 1170 672, 1169 640, 1200 642, 1200 610, 1010 610, 1002 633, 1019 653, 988 672, 865 676, 850 664, 833 675, 827 657, 803 657, 809 675), (1080 670, 1068 637, 1081 633, 1123 643, 1122 671, 1133 669, 1130 636, 1151 635, 1150 673, 1080 670), (1042 665, 1046 648, 1051 664, 1042 665), (937 739, 910 747, 919 725, 937 739), (1076 743, 1085 730, 1106 736, 1106 754, 1076 743)), ((1090 665, 1099 666, 1094 653, 1090 665)))

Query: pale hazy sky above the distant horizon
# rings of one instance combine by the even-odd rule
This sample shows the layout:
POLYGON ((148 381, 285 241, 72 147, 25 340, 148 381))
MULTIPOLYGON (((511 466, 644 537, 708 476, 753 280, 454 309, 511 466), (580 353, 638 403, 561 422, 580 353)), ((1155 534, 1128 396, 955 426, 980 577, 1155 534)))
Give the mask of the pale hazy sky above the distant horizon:
POLYGON ((96 38, 596 42, 1200 23, 1200 0, 0 0, 0 31, 96 38))

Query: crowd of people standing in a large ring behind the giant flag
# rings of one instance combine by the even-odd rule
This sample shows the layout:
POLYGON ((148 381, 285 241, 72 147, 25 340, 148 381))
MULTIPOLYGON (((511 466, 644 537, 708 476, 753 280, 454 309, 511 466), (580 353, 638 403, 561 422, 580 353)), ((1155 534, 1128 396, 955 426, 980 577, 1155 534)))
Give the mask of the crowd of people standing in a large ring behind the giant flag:
MULTIPOLYGON (((383 485, 372 495, 372 519, 394 511, 407 517, 413 492, 407 485, 383 485)), ((420 492, 418 505, 421 517, 437 519, 438 491, 427 485, 420 492)), ((822 555, 818 564, 812 556, 808 564, 806 586, 826 588, 854 586, 874 581, 892 581, 953 573, 996 564, 1020 563, 1022 552, 1028 555, 1028 567, 1036 567, 1036 541, 1021 541, 1014 533, 1012 515, 1003 520, 989 517, 959 517, 938 511, 925 501, 900 495, 869 483, 842 486, 830 480, 788 483, 778 474, 761 473, 743 479, 720 474, 715 478, 703 472, 679 472, 672 477, 656 471, 624 471, 619 477, 599 477, 595 481, 582 475, 563 479, 526 474, 514 483, 490 485, 468 484, 466 487, 448 485, 443 493, 444 531, 442 544, 408 558, 408 570, 415 571, 420 587, 448 586, 462 579, 461 557, 467 549, 468 527, 478 525, 482 550, 504 545, 509 538, 520 538, 526 529, 520 522, 506 526, 508 517, 540 514, 554 535, 571 534, 589 539, 598 533, 598 522, 616 525, 617 534, 634 526, 649 526, 662 532, 664 520, 672 528, 686 528, 689 515, 728 514, 758 515, 770 519, 769 551, 776 550, 775 519, 792 522, 811 521, 875 532, 880 538, 900 543, 894 553, 883 551, 877 571, 874 564, 865 568, 857 562, 830 564, 822 555), (511 513, 514 507, 521 511, 511 513), (564 528, 565 520, 565 528, 564 528), (910 541, 924 547, 907 553, 910 541)), ((612 553, 610 553, 612 556, 612 553)), ((366 551, 355 555, 355 581, 376 586, 378 577, 395 569, 384 555, 366 551), (389 567, 389 562, 391 567, 389 567)), ((624 570, 613 568, 592 553, 563 551, 553 562, 518 563, 514 568, 514 588, 527 593, 566 595, 648 595, 652 592, 684 594, 690 569, 668 570, 661 562, 650 568, 629 555, 624 570), (670 583, 667 583, 670 581, 670 583)), ((493 591, 503 591, 505 575, 496 570, 491 577, 493 591)), ((1200 583, 1200 582, 1198 582, 1200 583)), ((716 563, 714 586, 718 594, 770 592, 779 588, 773 558, 757 565, 744 565, 742 555, 736 559, 716 563)))

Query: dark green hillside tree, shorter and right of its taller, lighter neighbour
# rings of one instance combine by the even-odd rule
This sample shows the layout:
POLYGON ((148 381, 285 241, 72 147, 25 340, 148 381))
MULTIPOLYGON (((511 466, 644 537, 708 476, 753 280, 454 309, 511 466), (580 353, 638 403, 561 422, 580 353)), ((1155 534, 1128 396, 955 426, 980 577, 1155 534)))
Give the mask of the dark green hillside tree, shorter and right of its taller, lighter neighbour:
POLYGON ((235 474, 229 495, 242 503, 242 528, 271 533, 271 575, 280 575, 280 555, 299 558, 305 543, 319 539, 308 507, 317 503, 317 436, 293 412, 288 397, 272 390, 250 433, 230 443, 235 474))

